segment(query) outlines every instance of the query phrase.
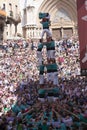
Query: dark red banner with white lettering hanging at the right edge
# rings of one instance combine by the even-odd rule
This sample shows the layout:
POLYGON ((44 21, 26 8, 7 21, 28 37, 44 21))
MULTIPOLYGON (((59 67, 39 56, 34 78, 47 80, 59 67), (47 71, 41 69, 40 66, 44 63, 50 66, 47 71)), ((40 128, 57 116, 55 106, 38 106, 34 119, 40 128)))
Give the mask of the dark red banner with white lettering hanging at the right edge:
POLYGON ((87 76, 87 0, 77 0, 81 75, 87 76))

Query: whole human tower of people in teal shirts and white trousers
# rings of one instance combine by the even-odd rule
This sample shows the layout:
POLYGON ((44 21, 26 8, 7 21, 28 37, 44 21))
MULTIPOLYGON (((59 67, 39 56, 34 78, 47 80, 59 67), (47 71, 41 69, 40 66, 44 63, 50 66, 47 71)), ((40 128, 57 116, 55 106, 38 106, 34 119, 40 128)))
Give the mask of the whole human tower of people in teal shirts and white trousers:
MULTIPOLYGON (((39 63, 39 100, 54 101, 58 98, 58 65, 55 58, 55 41, 52 39, 48 23, 50 21, 49 13, 39 13, 42 19, 43 32, 46 33, 45 42, 43 35, 38 43, 37 58, 39 63), (47 31, 44 31, 47 30, 47 31), (48 33, 49 32, 49 33, 48 33), (42 100, 42 98, 44 100, 42 100)), ((44 34, 42 32, 42 34, 44 34)))

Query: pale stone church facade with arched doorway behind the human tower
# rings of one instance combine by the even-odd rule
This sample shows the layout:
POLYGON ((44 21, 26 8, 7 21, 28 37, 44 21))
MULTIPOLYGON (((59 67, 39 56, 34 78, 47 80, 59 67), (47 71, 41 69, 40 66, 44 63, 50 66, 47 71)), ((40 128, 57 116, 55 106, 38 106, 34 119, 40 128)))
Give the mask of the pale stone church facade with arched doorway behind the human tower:
POLYGON ((42 26, 39 12, 51 16, 50 30, 54 39, 77 35, 76 0, 24 0, 22 6, 22 28, 25 38, 40 38, 42 26))

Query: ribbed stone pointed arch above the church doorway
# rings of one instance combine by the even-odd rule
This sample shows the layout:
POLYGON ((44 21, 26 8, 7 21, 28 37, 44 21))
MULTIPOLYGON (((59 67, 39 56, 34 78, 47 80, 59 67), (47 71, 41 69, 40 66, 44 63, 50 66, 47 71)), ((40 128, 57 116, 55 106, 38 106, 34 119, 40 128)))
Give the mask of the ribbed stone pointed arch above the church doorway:
MULTIPOLYGON (((76 1, 75 0, 44 0, 41 4, 41 6, 38 9, 39 12, 49 12, 51 15, 51 21, 53 22, 54 16, 56 12, 63 9, 66 12, 68 12, 68 15, 71 19, 71 28, 73 29, 74 26, 77 24, 77 10, 76 10, 76 1)), ((39 22, 39 20, 37 20, 39 22)), ((39 23, 38 23, 39 24, 39 23)), ((52 25, 53 26, 53 25, 52 25)), ((53 28, 51 26, 51 29, 53 28)), ((66 26, 66 25, 65 25, 66 26)), ((69 23, 70 27, 70 23, 69 23)), ((67 25, 68 28, 68 25, 67 25)))

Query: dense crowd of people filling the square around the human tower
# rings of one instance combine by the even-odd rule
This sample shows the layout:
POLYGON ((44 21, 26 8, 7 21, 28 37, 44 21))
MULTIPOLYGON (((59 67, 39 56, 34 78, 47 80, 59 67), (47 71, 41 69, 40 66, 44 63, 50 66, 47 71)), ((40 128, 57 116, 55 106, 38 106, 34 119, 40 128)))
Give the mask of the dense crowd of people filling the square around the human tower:
POLYGON ((4 41, 0 46, 0 130, 83 129, 87 126, 87 77, 80 76, 79 42, 55 41, 57 86, 46 78, 39 86, 37 45, 4 41), (39 97, 40 90, 55 87, 56 95, 39 97))

